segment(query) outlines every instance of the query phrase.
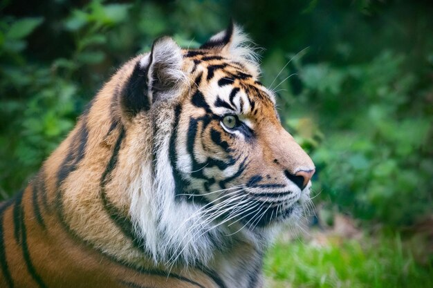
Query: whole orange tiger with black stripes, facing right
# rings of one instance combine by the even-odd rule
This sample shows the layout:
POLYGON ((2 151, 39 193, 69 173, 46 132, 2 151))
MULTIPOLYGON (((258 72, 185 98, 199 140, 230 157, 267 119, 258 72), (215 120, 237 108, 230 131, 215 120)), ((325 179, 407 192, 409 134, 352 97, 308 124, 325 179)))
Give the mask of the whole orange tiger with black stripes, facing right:
POLYGON ((264 250, 315 167, 241 29, 127 61, 15 198, 1 287, 263 287, 264 250))

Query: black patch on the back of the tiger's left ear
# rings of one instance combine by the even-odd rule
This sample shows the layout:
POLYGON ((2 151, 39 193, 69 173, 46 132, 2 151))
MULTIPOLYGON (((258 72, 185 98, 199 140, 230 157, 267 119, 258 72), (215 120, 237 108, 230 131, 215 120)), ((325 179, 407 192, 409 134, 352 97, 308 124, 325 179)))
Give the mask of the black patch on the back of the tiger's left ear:
POLYGON ((122 106, 122 110, 130 117, 135 116, 140 111, 147 111, 150 108, 151 103, 148 97, 149 86, 147 84, 148 71, 149 65, 143 67, 140 64, 140 60, 138 60, 131 76, 122 88, 120 105, 122 106))

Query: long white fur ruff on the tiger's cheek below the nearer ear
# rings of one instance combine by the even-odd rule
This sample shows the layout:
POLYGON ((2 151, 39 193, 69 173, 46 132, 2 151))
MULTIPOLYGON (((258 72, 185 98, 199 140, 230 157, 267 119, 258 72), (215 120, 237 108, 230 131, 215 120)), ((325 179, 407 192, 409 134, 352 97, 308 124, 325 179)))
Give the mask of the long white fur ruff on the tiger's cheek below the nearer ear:
MULTIPOLYGON (((154 135, 158 154, 155 174, 152 177, 151 162, 142 166, 141 179, 131 185, 129 213, 155 263, 170 265, 175 260, 186 265, 193 265, 197 260, 205 263, 215 249, 210 239, 203 235, 212 223, 202 225, 198 206, 174 198, 174 177, 168 153, 173 115, 172 111, 161 109, 161 112, 155 119, 158 125, 158 135, 154 135), (191 229, 194 225, 195 229, 191 229)), ((223 241, 221 232, 210 233, 223 241)))

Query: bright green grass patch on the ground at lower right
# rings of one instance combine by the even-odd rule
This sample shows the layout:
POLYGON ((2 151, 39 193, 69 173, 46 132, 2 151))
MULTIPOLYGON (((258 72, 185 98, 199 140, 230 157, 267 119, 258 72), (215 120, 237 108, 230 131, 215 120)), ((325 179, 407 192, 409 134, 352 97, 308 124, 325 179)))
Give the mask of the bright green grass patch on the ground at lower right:
POLYGON ((416 262, 400 236, 280 240, 265 259, 265 287, 431 288, 432 258, 416 262))

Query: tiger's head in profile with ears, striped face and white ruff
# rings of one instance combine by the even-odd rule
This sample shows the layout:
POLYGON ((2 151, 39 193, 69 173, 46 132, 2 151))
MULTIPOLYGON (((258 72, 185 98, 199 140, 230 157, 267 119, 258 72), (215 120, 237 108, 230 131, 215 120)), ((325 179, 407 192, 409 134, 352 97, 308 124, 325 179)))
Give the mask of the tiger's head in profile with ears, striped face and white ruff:
POLYGON ((131 155, 147 164, 128 174, 138 175, 129 213, 156 260, 205 262, 234 243, 261 245, 300 215, 315 166, 282 127, 237 26, 199 49, 158 39, 131 63, 118 102, 136 133, 131 155))

